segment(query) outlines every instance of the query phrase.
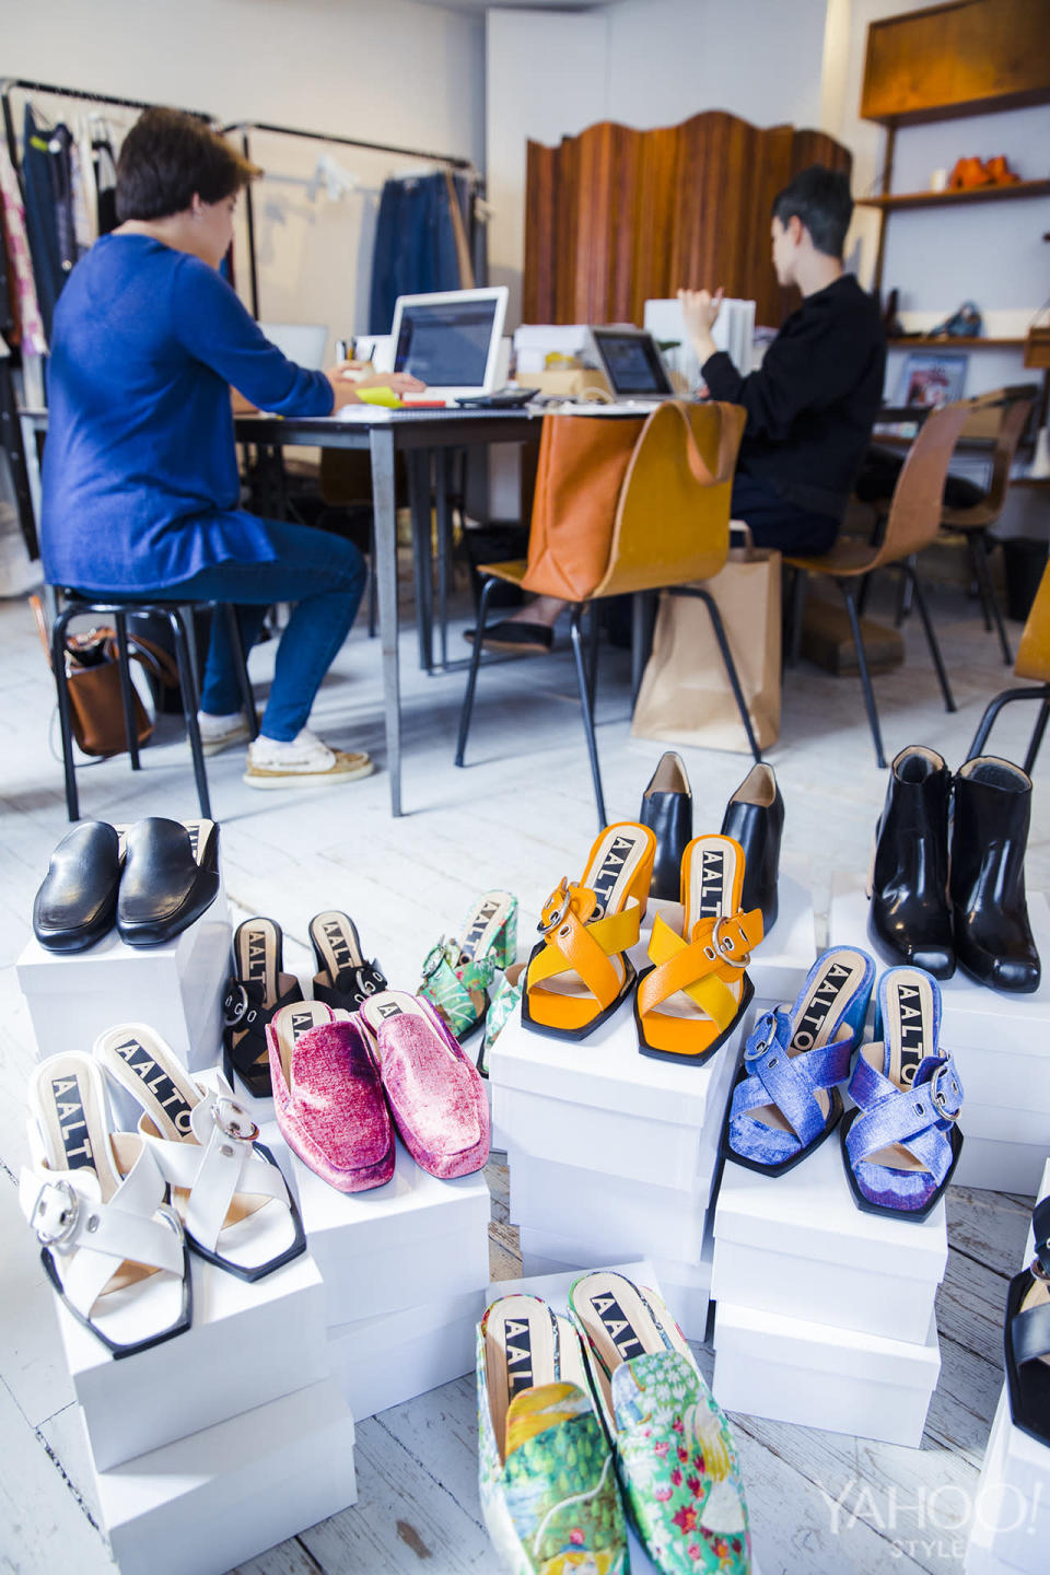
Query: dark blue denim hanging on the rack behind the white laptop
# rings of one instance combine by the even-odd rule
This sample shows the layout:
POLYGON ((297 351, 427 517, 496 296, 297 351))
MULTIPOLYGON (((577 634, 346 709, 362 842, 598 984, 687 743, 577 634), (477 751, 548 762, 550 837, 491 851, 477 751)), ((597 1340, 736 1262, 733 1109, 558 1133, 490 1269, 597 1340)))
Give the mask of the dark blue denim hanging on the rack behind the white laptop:
MULTIPOLYGON (((461 183, 453 181, 460 191, 461 183)), ((372 254, 368 332, 390 332, 400 295, 461 287, 444 170, 387 181, 372 254)))

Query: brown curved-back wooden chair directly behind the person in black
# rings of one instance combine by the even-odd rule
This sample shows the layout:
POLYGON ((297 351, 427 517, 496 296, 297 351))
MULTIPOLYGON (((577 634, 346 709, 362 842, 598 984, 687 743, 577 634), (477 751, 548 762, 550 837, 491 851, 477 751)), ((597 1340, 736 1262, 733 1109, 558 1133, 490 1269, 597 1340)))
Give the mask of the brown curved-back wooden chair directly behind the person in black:
POLYGON ((893 499, 889 502, 889 513, 886 515, 886 529, 882 542, 869 543, 860 540, 858 537, 847 536, 839 537, 831 551, 823 553, 820 558, 784 559, 792 565, 792 569, 795 569, 795 649, 801 636, 806 576, 828 575, 842 592, 850 619, 853 644, 856 647, 856 665, 860 668, 861 685, 864 690, 864 706, 867 707, 867 720, 871 723, 872 740, 875 743, 875 759, 883 769, 886 765, 886 758, 882 747, 875 695, 872 691, 867 658, 864 655, 864 639, 861 636, 856 610, 856 592, 860 584, 863 584, 864 576, 874 569, 894 567, 905 575, 915 592, 915 602, 922 619, 922 628, 926 630, 930 657, 934 658, 937 677, 940 679, 941 693, 945 696, 945 709, 956 710, 956 701, 952 699, 951 687, 948 684, 948 674, 937 644, 937 635, 934 633, 930 614, 926 606, 926 597, 915 569, 915 558, 924 547, 930 545, 940 529, 948 463, 968 416, 970 405, 959 402, 956 405, 946 405, 945 410, 934 411, 934 414, 926 419, 926 424, 911 444, 900 468, 900 476, 897 477, 897 485, 894 487, 893 499))

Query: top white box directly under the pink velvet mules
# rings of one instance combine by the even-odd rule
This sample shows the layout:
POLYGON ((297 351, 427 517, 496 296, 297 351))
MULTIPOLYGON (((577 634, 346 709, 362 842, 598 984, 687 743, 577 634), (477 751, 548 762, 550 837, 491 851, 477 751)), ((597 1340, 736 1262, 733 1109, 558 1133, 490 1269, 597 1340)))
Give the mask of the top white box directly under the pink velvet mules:
POLYGON ((283 1143, 263 1140, 290 1177, 324 1279, 329 1326, 376 1318, 488 1284, 491 1200, 485 1175, 439 1181, 397 1142, 394 1178, 368 1192, 337 1192, 283 1143), (288 1164, 285 1164, 288 1156, 288 1164))

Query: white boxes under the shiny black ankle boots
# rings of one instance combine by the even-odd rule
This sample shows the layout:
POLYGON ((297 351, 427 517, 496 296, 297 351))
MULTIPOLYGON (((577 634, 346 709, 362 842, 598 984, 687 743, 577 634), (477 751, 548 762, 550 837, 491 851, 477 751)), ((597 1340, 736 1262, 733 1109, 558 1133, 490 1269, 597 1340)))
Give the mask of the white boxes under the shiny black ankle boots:
MULTIPOLYGON (((867 939, 864 882, 836 874, 831 887, 831 943, 867 939)), ((959 1128, 965 1142, 956 1175, 960 1186, 1034 1194, 1050 1153, 1050 907, 1028 898, 1028 918, 1042 958, 1042 984, 1033 995, 1009 995, 976 984, 962 969, 940 986, 941 1046, 965 1088, 959 1128)), ((891 964, 875 956, 880 972, 891 964)))

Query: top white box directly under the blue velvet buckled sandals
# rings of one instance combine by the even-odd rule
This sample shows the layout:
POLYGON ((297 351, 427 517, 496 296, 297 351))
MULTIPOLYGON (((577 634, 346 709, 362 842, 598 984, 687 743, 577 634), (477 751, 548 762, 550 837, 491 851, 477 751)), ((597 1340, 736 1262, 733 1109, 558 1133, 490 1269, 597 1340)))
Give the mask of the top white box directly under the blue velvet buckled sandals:
POLYGON ((837 1131, 781 1177, 726 1161, 715 1202, 718 1303, 921 1342, 946 1265, 943 1199, 921 1222, 860 1210, 837 1131))

